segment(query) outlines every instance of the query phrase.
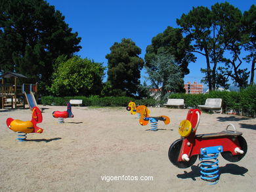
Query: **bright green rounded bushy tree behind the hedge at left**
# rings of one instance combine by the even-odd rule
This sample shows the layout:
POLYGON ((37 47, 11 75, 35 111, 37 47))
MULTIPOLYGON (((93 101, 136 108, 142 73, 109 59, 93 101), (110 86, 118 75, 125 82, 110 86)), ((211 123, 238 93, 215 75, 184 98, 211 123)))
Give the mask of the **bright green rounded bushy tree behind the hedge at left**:
POLYGON ((55 96, 100 94, 104 77, 102 64, 79 56, 73 56, 66 61, 61 56, 56 62, 58 67, 53 73, 53 84, 48 87, 55 96))

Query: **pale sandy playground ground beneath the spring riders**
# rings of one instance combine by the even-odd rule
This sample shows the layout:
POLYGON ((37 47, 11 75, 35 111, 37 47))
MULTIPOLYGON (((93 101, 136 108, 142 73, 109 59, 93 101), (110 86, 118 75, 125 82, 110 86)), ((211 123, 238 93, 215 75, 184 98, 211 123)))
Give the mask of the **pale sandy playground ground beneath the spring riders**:
POLYGON ((200 178, 199 160, 190 168, 170 163, 168 149, 180 138, 179 123, 188 109, 149 108, 150 115, 167 115, 161 130, 140 126, 125 108, 72 107, 75 117, 64 124, 52 117, 64 106, 43 108, 42 134, 16 142, 8 117, 31 120, 30 109, 0 109, 0 191, 255 191, 256 119, 202 113, 197 134, 221 132, 228 123, 247 141, 244 159, 230 163, 219 156, 220 180, 208 185, 200 178), (110 178, 112 176, 112 178, 110 178), (119 176, 119 181, 115 181, 119 176), (142 181, 152 176, 153 181, 142 181), (102 178, 106 180, 102 180, 102 178), (135 180, 138 178, 138 180, 135 180), (145 177, 144 177, 145 178, 145 177), (112 181, 107 181, 112 179, 112 181), (130 179, 130 181, 128 181, 130 179))

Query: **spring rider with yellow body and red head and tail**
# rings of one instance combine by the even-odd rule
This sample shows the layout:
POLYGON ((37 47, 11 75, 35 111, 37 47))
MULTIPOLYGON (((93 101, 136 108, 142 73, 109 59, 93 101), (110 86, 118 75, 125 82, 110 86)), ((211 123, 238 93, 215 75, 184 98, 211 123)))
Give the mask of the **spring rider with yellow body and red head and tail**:
POLYGON ((17 140, 19 142, 26 141, 26 134, 28 133, 42 133, 43 128, 39 128, 37 123, 43 121, 43 116, 38 107, 33 107, 32 109, 32 120, 31 121, 21 121, 19 119, 8 118, 6 123, 7 126, 14 132, 18 132, 17 140))

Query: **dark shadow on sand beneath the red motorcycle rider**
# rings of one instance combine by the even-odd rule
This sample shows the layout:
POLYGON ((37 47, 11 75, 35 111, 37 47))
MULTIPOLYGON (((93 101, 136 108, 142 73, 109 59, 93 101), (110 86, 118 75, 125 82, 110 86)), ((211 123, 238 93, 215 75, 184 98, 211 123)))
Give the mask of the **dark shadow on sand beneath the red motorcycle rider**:
MULTIPOLYGON (((191 171, 186 172, 184 171, 184 174, 177 174, 177 178, 181 179, 192 179, 196 180, 196 178, 201 176, 200 173, 200 167, 196 165, 191 166, 191 171)), ((247 168, 244 168, 243 166, 238 166, 237 164, 226 164, 226 166, 220 166, 219 167, 219 176, 221 177, 221 174, 233 174, 233 175, 240 175, 244 176, 244 174, 248 171, 247 168)))

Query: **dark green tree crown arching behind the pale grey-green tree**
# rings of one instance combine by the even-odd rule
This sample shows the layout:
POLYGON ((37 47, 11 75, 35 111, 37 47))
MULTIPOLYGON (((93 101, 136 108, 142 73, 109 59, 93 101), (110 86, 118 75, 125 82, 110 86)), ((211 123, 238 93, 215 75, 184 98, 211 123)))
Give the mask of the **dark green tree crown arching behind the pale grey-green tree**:
POLYGON ((163 33, 152 38, 152 44, 146 47, 145 62, 147 67, 158 54, 169 53, 181 66, 183 77, 189 73, 188 63, 194 62, 194 54, 188 52, 189 41, 182 37, 182 29, 167 27, 163 33))

